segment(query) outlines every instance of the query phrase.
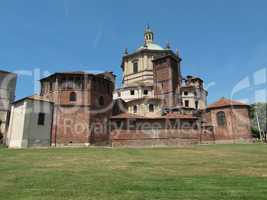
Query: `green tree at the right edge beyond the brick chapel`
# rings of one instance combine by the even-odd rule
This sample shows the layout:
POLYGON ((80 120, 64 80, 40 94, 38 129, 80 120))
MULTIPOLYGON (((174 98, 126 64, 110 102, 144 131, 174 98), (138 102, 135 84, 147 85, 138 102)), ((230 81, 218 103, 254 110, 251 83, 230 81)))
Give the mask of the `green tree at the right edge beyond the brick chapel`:
POLYGON ((262 138, 266 142, 267 136, 267 103, 251 105, 252 133, 255 137, 262 138))

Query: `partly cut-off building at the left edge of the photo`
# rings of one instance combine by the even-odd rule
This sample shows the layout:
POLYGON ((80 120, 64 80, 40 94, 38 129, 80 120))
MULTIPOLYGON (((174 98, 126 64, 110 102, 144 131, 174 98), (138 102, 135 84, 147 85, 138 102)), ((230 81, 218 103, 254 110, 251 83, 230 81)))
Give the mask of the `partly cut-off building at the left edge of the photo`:
POLYGON ((0 70, 0 143, 5 143, 11 104, 15 100, 17 75, 0 70))

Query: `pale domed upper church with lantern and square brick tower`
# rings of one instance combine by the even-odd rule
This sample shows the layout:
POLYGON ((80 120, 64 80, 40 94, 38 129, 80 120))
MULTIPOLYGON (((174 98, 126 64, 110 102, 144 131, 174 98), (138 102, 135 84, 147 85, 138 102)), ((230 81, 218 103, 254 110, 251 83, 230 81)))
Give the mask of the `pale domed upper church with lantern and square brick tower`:
POLYGON ((178 50, 171 50, 169 43, 163 48, 154 42, 154 32, 147 26, 144 44, 132 53, 125 50, 122 87, 114 99, 124 100, 129 113, 142 116, 160 116, 164 109, 205 109, 203 81, 183 78, 181 61, 178 50))

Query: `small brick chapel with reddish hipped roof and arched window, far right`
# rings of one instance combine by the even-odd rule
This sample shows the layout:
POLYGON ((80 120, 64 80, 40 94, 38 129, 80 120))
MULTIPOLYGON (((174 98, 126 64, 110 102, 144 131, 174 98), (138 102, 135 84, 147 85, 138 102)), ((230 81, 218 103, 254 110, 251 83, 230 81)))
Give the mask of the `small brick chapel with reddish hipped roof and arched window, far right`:
POLYGON ((249 105, 221 98, 210 104, 204 115, 204 125, 213 126, 216 143, 247 142, 252 139, 249 105))

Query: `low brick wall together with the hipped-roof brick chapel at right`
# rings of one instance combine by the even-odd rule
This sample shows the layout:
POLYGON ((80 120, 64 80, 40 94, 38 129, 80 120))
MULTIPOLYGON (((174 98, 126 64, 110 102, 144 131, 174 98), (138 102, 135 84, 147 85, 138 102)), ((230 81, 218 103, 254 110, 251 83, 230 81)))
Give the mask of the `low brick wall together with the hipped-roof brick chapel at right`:
POLYGON ((122 113, 113 116, 111 122, 113 147, 243 143, 252 140, 249 106, 227 99, 197 112, 180 110, 160 117, 122 113))

